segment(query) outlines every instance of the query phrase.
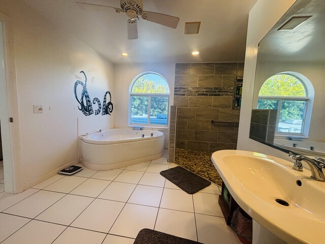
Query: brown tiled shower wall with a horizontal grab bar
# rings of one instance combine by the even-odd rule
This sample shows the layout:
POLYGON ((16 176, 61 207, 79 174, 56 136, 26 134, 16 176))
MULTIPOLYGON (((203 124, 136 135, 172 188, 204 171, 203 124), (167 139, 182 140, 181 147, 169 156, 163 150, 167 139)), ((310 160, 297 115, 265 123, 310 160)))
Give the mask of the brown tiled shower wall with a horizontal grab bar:
POLYGON ((170 147, 236 149, 240 110, 232 109, 232 101, 235 78, 243 71, 244 63, 176 64, 176 136, 170 147))

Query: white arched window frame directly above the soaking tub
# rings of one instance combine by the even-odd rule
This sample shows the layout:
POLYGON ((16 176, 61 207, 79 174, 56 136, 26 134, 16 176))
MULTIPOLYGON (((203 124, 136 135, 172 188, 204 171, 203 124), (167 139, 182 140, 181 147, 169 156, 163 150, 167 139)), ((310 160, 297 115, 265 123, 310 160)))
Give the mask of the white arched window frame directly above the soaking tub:
POLYGON ((129 92, 128 92, 128 126, 132 127, 132 126, 141 126, 143 128, 156 128, 156 129, 168 129, 169 128, 169 106, 170 106, 170 87, 169 84, 167 82, 167 80, 160 74, 155 73, 155 72, 144 72, 141 73, 139 75, 137 75, 133 81, 131 82, 130 86, 129 86, 129 92), (154 75, 158 75, 161 78, 163 78, 166 81, 166 84, 168 85, 168 89, 169 89, 169 93, 132 93, 132 89, 134 84, 137 82, 137 80, 144 76, 144 75, 148 75, 148 74, 154 74, 154 75), (148 124, 139 124, 139 123, 131 123, 131 116, 132 116, 132 97, 148 97, 148 124), (151 98, 152 97, 165 97, 168 98, 168 108, 167 108, 167 125, 154 125, 154 124, 150 124, 150 105, 151 105, 151 98))

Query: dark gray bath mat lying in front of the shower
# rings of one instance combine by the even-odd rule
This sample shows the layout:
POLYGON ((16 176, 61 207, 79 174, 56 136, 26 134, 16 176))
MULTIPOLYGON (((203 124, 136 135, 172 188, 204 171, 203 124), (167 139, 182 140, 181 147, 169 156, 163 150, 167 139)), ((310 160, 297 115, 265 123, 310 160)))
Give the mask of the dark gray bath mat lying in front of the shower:
POLYGON ((180 166, 161 171, 160 174, 188 194, 194 194, 211 185, 209 180, 180 166))

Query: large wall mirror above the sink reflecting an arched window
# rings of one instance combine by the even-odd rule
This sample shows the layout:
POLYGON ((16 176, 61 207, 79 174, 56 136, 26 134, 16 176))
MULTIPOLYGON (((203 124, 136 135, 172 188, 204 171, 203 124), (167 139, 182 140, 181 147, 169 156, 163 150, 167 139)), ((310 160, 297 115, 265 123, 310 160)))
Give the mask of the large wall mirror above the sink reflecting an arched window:
POLYGON ((259 43, 249 137, 325 156, 324 0, 297 0, 259 43))

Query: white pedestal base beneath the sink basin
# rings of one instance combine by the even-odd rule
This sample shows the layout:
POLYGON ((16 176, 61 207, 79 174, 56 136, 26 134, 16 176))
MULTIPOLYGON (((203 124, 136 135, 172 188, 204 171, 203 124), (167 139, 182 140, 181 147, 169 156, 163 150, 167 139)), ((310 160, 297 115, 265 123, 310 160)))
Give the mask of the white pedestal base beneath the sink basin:
POLYGON ((272 232, 253 220, 253 241, 252 244, 287 244, 272 232))

